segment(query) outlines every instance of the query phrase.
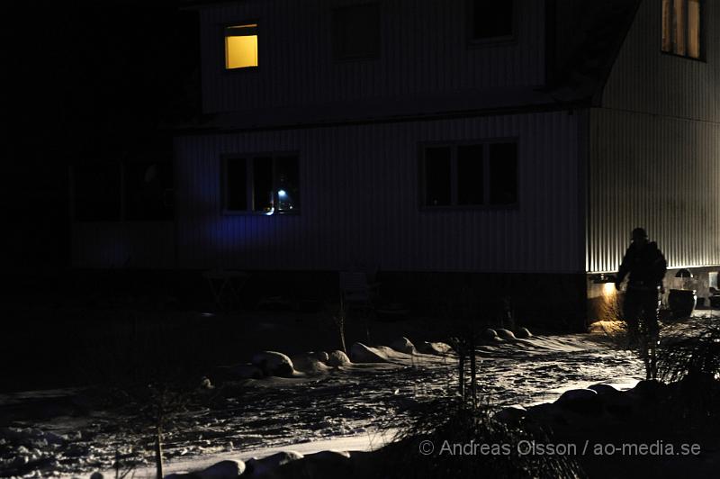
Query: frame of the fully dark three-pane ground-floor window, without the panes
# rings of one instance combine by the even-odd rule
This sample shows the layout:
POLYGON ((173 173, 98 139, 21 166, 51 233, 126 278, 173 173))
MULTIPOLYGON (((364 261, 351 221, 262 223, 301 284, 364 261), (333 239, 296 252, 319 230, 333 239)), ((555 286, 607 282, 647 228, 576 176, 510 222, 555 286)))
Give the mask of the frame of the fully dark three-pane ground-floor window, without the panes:
POLYGON ((435 140, 422 141, 418 143, 418 171, 419 171, 419 211, 420 212, 458 212, 458 211, 490 211, 490 210, 518 210, 521 203, 520 187, 520 139, 517 136, 510 137, 493 137, 482 140, 435 140), (514 143, 518 149, 516 158, 517 168, 515 173, 515 182, 518 185, 518 194, 515 203, 490 203, 491 199, 491 166, 490 166, 490 146, 497 143, 514 143), (458 204, 458 167, 457 167, 457 149, 462 146, 482 145, 482 204, 458 204), (450 151, 450 204, 432 206, 426 203, 426 195, 428 189, 427 177, 425 174, 425 151, 428 148, 449 147, 450 151))

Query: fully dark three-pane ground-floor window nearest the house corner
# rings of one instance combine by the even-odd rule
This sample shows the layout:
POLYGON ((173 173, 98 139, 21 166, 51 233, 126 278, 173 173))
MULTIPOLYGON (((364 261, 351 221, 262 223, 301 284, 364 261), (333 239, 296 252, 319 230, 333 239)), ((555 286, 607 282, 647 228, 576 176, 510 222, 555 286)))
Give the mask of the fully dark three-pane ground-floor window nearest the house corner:
POLYGON ((423 206, 518 203, 517 141, 428 146, 421 163, 423 206))

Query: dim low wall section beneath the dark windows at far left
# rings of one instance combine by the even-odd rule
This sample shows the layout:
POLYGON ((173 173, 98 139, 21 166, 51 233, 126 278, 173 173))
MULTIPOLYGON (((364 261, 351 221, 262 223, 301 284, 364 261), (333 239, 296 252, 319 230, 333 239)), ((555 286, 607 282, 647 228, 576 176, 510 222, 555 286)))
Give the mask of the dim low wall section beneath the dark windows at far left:
POLYGON ((175 266, 172 221, 73 222, 73 267, 175 266))

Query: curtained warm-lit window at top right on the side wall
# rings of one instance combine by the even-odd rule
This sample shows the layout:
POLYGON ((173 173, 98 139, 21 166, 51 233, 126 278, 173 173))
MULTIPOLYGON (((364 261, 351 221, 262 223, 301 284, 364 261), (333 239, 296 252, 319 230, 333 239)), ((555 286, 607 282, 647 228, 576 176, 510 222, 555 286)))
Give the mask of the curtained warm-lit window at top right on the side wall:
POLYGON ((702 0, 662 0, 662 51, 700 59, 702 0))

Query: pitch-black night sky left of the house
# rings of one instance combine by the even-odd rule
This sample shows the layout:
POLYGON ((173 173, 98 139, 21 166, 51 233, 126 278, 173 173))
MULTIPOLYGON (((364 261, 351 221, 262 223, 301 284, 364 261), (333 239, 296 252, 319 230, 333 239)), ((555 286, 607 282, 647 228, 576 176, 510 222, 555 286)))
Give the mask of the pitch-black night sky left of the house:
POLYGON ((199 111, 196 15, 177 2, 33 3, 3 15, 4 235, 14 267, 67 266, 67 166, 171 158, 199 111))

